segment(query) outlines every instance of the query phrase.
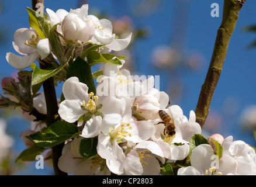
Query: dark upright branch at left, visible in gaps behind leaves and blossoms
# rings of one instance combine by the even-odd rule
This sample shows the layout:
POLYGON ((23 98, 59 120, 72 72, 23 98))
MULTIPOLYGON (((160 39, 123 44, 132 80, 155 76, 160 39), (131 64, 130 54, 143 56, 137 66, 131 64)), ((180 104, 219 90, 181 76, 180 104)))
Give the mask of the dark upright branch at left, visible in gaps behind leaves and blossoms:
MULTIPOLYGON (((43 0, 32 0, 32 8, 34 11, 39 8, 37 4, 44 5, 43 0)), ((39 63, 41 69, 46 69, 50 67, 49 63, 39 63)), ((60 120, 60 116, 58 115, 58 102, 56 97, 56 90, 54 87, 54 79, 53 77, 46 79, 46 81, 43 82, 43 89, 44 89, 44 95, 46 99, 46 108, 47 108, 47 115, 46 115, 46 124, 47 127, 49 127, 51 124, 56 122, 57 120, 60 120)), ((55 175, 67 175, 67 173, 61 171, 58 168, 58 158, 61 156, 61 151, 63 149, 64 143, 58 144, 57 146, 53 146, 51 148, 51 154, 53 157, 53 168, 55 175)))

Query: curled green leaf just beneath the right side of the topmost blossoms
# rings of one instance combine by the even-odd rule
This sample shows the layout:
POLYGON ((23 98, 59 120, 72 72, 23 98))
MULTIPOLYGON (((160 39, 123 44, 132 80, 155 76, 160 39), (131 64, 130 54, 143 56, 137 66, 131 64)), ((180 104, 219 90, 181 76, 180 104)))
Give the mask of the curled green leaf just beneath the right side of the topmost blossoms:
POLYGON ((100 54, 97 51, 90 51, 87 56, 88 64, 92 67, 93 65, 100 63, 112 63, 115 65, 122 65, 122 62, 113 54, 100 54))

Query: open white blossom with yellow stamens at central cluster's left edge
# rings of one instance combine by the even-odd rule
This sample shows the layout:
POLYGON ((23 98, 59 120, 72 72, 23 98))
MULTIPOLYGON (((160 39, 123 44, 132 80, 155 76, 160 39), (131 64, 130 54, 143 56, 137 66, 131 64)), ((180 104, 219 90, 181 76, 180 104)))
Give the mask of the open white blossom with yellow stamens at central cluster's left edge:
POLYGON ((74 123, 82 115, 89 120, 81 136, 95 137, 101 132, 101 126, 120 123, 126 103, 114 96, 88 94, 88 86, 79 82, 77 77, 68 78, 63 84, 65 100, 60 103, 58 113, 62 119, 74 123), (109 107, 111 106, 111 108, 109 107))

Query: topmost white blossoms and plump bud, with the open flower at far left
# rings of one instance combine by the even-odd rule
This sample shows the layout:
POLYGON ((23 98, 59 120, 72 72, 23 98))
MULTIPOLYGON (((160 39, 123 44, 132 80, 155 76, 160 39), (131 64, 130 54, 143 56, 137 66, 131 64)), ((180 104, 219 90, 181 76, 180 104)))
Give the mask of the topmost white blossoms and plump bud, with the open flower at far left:
MULTIPOLYGON (((51 24, 57 25, 56 32, 61 34, 66 42, 75 43, 79 47, 88 43, 102 44, 105 45, 104 51, 120 51, 129 45, 132 37, 130 33, 125 39, 116 39, 116 35, 112 33, 112 23, 108 19, 98 19, 94 15, 88 15, 88 5, 71 9, 70 12, 64 9, 54 12, 48 8, 46 12, 51 24)), ((23 56, 7 53, 6 60, 19 70, 29 67, 37 58, 43 60, 51 55, 49 38, 41 39, 40 34, 33 27, 16 30, 13 38, 13 48, 23 56)))

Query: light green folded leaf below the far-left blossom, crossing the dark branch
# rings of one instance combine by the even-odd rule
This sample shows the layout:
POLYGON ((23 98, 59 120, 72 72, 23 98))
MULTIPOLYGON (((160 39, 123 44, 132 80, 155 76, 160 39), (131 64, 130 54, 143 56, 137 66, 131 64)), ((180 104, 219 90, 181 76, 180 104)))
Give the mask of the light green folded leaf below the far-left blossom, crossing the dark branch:
POLYGON ((39 84, 40 82, 44 82, 46 79, 53 77, 58 72, 60 72, 65 67, 66 64, 68 64, 68 61, 64 65, 56 69, 50 69, 50 70, 42 70, 36 66, 32 74, 32 85, 39 84))

